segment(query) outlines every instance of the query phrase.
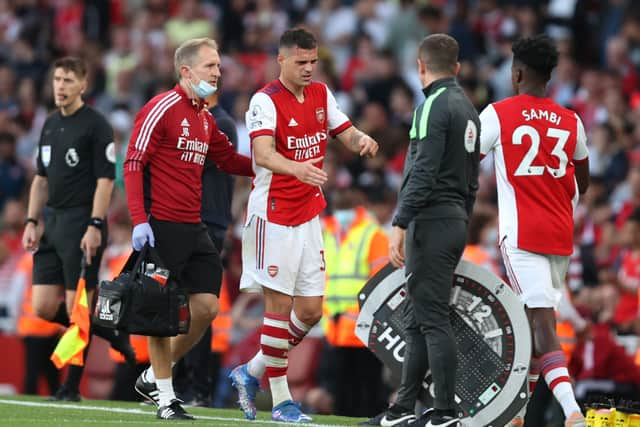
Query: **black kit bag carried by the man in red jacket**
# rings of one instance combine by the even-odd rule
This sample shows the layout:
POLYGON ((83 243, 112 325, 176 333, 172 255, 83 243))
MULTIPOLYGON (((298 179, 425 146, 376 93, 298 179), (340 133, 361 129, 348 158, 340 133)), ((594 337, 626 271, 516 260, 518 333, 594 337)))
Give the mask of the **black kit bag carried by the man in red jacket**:
POLYGON ((118 277, 100 283, 93 321, 136 335, 172 337, 188 333, 189 297, 163 267, 158 253, 149 245, 134 251, 118 277))

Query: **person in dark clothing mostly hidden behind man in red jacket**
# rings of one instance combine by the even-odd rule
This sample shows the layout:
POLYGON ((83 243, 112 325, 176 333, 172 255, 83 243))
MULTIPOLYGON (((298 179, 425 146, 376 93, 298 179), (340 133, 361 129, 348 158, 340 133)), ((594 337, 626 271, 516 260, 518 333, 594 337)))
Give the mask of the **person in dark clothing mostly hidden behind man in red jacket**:
MULTIPOLYGON (((218 79, 217 90, 207 101, 218 129, 222 131, 234 147, 238 147, 236 124, 227 111, 218 104, 222 79, 218 79)), ((206 160, 202 172, 202 222, 207 226, 209 237, 218 253, 222 254, 225 234, 231 224, 231 200, 233 198, 233 176, 222 172, 211 160, 206 160)), ((184 369, 176 375, 176 388, 191 394, 192 406, 211 405, 211 391, 218 382, 222 364, 222 354, 211 351, 211 326, 207 328, 191 350, 176 365, 176 370, 184 369), (189 390, 190 388, 190 390, 189 390)))

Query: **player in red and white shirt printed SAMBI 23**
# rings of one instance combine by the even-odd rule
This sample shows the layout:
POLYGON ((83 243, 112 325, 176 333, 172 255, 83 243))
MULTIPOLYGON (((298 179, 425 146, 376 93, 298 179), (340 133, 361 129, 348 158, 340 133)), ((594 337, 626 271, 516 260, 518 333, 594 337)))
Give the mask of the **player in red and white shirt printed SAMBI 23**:
POLYGON ((516 96, 480 114, 483 155, 493 152, 498 184, 500 248, 511 287, 526 306, 533 334, 532 364, 566 416, 583 427, 555 328, 555 313, 573 252, 573 211, 589 185, 586 135, 577 114, 545 95, 558 63, 546 36, 512 47, 516 96))

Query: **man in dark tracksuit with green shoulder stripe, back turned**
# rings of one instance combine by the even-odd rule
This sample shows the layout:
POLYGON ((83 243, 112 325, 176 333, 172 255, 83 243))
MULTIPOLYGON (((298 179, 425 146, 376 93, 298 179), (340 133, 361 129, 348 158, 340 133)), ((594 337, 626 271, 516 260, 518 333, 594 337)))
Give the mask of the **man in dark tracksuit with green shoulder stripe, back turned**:
POLYGON ((432 34, 422 41, 418 75, 426 99, 413 116, 389 239, 392 264, 406 264, 407 344, 398 398, 381 419, 383 426, 415 420, 414 406, 429 367, 434 410, 426 425, 460 425, 454 402, 456 347, 449 298, 478 188, 480 120, 455 81, 459 69, 455 39, 432 34))

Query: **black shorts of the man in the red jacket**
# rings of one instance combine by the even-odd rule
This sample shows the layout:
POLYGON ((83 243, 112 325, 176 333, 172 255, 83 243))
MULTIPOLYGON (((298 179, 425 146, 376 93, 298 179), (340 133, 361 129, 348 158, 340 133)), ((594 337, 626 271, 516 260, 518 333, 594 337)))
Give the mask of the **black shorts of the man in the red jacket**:
POLYGON ((207 226, 149 220, 155 249, 178 286, 190 294, 220 294, 222 264, 207 226))

